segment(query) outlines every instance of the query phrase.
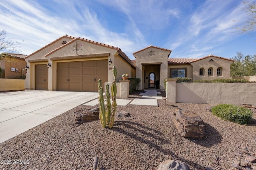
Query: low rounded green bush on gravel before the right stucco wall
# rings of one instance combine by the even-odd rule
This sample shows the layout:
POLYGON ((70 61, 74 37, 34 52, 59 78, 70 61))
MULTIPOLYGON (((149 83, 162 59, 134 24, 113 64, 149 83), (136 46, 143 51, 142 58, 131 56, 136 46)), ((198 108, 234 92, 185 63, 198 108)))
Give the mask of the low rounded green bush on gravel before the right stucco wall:
POLYGON ((242 107, 230 104, 219 104, 212 107, 212 113, 222 120, 232 121, 241 125, 249 123, 252 118, 252 111, 242 107))

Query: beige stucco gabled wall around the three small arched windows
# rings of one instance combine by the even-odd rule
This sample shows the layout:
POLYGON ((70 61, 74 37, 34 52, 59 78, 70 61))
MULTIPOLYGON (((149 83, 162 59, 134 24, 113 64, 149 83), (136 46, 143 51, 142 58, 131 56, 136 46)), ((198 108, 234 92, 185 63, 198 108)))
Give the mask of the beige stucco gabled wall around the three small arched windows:
POLYGON ((230 78, 230 64, 233 61, 220 59, 217 57, 208 57, 191 63, 193 66, 193 81, 198 79, 213 80, 216 78, 230 78), (210 61, 212 59, 213 61, 210 61), (222 76, 217 76, 217 68, 222 68, 222 76), (204 68, 204 76, 199 76, 200 68, 204 68), (208 68, 213 68, 213 76, 208 76, 208 68))

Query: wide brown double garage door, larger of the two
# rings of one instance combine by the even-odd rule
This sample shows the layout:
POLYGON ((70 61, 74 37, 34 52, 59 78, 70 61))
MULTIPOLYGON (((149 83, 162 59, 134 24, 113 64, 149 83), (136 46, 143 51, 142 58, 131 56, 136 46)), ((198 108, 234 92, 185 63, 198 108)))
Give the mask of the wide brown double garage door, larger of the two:
POLYGON ((98 79, 108 82, 108 60, 57 63, 57 90, 97 92, 98 79))

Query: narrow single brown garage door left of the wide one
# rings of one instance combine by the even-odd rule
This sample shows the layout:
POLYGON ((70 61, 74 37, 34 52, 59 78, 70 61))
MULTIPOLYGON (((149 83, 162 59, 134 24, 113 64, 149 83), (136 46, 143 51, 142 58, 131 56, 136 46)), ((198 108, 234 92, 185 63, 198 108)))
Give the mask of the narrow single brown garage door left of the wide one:
POLYGON ((35 85, 36 90, 48 90, 48 68, 46 64, 36 65, 35 85))

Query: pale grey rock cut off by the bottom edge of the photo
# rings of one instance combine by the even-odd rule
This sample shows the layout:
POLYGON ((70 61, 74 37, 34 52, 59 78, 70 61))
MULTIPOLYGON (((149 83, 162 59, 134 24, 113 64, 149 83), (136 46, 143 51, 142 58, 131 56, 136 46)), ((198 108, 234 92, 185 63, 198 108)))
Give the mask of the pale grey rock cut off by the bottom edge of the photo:
POLYGON ((184 162, 169 159, 160 163, 157 170, 190 170, 190 168, 184 162))

